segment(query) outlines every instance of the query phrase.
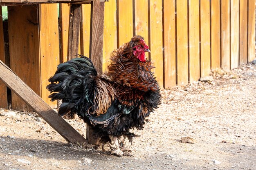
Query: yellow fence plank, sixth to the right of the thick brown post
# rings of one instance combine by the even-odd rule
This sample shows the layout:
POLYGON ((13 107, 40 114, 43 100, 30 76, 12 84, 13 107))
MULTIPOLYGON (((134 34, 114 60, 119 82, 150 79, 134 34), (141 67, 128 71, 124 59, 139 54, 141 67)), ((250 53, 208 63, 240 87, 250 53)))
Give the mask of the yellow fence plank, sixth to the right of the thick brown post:
POLYGON ((177 83, 188 83, 188 13, 187 0, 176 2, 177 7, 177 83))

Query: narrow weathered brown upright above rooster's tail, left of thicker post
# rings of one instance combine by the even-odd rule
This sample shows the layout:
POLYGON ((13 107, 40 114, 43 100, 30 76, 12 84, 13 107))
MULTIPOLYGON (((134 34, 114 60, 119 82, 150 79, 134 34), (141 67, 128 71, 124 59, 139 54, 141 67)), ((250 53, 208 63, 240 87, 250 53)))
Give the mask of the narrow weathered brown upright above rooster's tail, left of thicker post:
POLYGON ((79 52, 80 22, 81 4, 72 4, 68 28, 67 60, 76 58, 79 52))

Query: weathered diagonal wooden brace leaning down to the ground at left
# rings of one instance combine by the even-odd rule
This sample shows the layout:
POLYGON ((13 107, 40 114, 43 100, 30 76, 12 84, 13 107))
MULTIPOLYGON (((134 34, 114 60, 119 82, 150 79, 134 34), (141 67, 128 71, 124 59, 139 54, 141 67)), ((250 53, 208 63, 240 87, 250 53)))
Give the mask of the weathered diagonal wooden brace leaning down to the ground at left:
POLYGON ((86 142, 70 124, 63 118, 58 116, 49 105, 47 105, 42 98, 40 98, 31 88, 29 88, 11 69, 0 61, 0 79, 24 102, 38 113, 53 129, 55 129, 67 142, 82 143, 86 142))

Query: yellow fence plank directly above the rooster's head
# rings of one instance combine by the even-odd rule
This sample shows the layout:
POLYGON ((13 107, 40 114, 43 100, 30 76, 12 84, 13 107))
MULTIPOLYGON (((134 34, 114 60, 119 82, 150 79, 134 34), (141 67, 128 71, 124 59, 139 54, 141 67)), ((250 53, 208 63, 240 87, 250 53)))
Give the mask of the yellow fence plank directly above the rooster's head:
POLYGON ((148 42, 148 0, 135 0, 135 35, 148 42))

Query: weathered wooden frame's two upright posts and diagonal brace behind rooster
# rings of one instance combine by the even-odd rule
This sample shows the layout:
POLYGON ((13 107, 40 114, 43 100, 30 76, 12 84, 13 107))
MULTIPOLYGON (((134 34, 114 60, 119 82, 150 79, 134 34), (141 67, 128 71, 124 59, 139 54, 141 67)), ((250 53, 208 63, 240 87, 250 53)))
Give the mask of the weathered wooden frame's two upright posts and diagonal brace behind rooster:
MULTIPOLYGON (((103 57, 103 25, 104 2, 108 0, 94 0, 91 2, 91 31, 90 31, 90 58, 95 68, 102 72, 103 57)), ((89 2, 89 1, 83 1, 89 2)), ((1 5, 1 4, 0 4, 1 5)), ((19 5, 17 3, 10 4, 19 5)), ((81 22, 81 3, 72 3, 70 9, 69 42, 67 59, 76 57, 79 49, 79 28, 81 22)), ((83 143, 86 139, 81 136, 70 124, 43 101, 31 88, 29 88, 10 68, 0 60, 0 80, 2 80, 18 97, 27 103, 50 126, 52 126, 67 142, 83 143)), ((87 128, 87 139, 90 144, 98 144, 99 139, 92 135, 92 129, 87 128)))

